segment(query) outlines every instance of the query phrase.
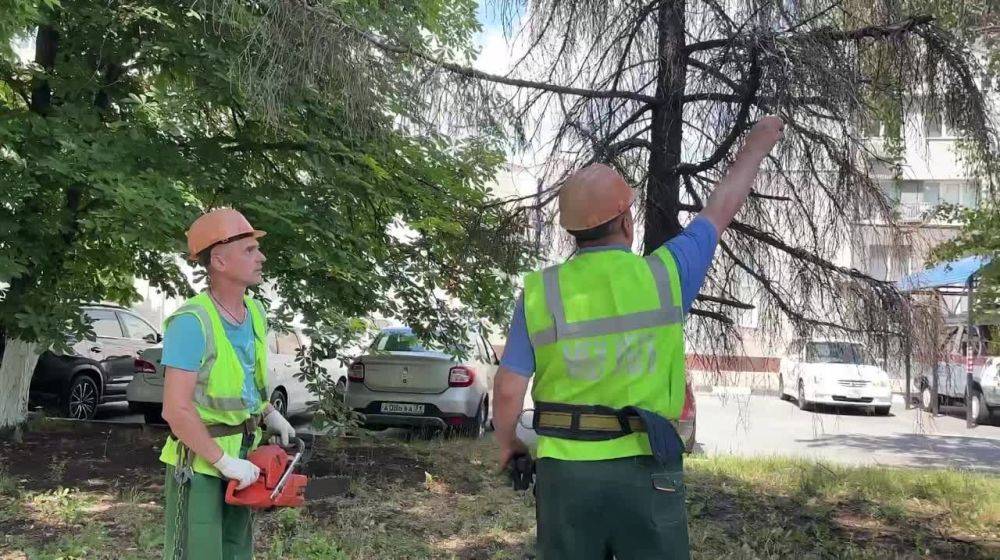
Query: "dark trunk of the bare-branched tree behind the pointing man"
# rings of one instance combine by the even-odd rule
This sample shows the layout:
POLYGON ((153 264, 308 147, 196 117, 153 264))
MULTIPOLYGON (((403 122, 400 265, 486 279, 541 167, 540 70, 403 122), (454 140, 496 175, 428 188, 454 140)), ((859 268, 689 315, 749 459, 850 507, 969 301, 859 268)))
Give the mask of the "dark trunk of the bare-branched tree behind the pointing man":
POLYGON ((649 180, 646 183, 644 253, 651 253, 681 230, 677 218, 680 204, 684 86, 687 62, 684 54, 685 0, 663 2, 657 8, 657 54, 659 58, 653 123, 650 132, 649 180))

